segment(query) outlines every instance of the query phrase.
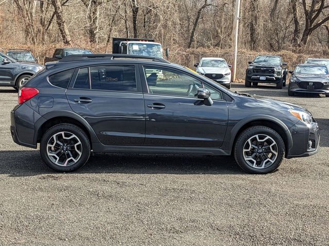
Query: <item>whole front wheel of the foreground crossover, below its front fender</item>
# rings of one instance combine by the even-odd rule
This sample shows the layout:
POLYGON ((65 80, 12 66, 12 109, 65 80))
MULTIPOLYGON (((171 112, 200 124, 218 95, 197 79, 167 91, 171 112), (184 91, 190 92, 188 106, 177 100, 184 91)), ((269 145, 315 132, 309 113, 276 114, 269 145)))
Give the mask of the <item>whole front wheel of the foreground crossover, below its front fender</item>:
POLYGON ((281 164, 285 146, 281 136, 273 129, 254 126, 244 130, 236 140, 234 158, 246 172, 267 174, 281 164))

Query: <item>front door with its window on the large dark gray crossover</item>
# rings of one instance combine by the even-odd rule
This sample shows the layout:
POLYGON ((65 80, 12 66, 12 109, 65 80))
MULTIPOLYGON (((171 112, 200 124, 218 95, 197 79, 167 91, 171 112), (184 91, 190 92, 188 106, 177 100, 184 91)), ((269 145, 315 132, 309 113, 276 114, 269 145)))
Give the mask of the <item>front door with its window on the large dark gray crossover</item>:
POLYGON ((178 70, 144 66, 146 146, 221 147, 228 121, 228 105, 222 92, 178 70), (163 76, 149 71, 162 71, 163 76), (196 97, 197 89, 211 91, 213 105, 196 97))

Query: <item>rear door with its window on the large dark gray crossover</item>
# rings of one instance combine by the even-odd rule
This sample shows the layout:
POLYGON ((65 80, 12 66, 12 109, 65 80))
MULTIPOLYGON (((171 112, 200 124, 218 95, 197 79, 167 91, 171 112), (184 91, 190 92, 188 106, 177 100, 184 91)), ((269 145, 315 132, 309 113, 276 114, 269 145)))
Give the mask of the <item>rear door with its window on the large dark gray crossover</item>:
POLYGON ((145 108, 135 65, 98 65, 75 72, 66 95, 104 145, 143 145, 145 108), (137 79, 138 78, 138 79, 137 79))

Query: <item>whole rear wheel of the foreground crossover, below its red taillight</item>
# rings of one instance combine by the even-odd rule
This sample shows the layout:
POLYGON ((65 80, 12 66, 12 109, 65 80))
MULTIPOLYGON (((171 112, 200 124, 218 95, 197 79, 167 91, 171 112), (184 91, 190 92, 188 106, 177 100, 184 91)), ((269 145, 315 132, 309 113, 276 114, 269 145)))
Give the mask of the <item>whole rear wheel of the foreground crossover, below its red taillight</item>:
POLYGON ((42 136, 40 154, 49 168, 57 172, 72 172, 89 159, 90 142, 81 128, 59 124, 42 136))

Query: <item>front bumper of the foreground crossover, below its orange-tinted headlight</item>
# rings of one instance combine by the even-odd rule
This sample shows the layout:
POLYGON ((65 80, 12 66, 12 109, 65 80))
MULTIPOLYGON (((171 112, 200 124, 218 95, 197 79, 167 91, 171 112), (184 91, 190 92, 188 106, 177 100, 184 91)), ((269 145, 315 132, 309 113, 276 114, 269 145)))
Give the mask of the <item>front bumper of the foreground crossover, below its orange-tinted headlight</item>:
POLYGON ((317 122, 307 125, 298 121, 289 131, 293 146, 288 150, 286 158, 310 156, 319 151, 320 134, 317 122))

